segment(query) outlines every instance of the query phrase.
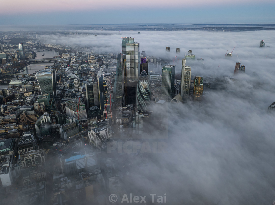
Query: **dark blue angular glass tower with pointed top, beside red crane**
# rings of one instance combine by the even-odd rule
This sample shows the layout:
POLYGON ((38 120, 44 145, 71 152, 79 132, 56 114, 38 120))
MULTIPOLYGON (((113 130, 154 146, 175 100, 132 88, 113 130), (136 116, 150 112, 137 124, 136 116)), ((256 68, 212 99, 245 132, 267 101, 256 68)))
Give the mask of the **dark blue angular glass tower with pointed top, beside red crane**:
POLYGON ((103 74, 103 68, 101 68, 97 73, 97 83, 98 83, 98 100, 99 108, 101 114, 105 110, 105 106, 110 107, 110 94, 106 85, 105 76, 103 74))

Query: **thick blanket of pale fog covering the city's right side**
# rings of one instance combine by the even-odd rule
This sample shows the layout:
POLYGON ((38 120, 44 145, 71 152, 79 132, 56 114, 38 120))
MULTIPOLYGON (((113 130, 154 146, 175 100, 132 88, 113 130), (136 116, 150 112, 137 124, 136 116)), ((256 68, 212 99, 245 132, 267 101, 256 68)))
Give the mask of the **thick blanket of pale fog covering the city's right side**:
MULTIPOLYGON (((159 139, 167 147, 158 154, 120 155, 121 160, 131 161, 129 175, 121 179, 127 193, 146 195, 147 199, 151 193, 166 193, 167 204, 272 203, 275 116, 267 107, 275 101, 275 31, 80 32, 83 34, 39 37, 51 44, 86 47, 97 54, 117 54, 121 37, 134 37, 140 51, 176 65, 176 74, 181 72, 182 58, 192 50, 196 60, 186 60, 192 76, 225 77, 224 83, 233 91, 207 89, 202 102, 153 108, 156 115, 167 113, 167 138, 159 139), (260 40, 270 47, 259 48, 260 40), (165 51, 166 47, 171 51, 165 51), (232 57, 226 57, 227 50, 234 47, 232 57), (176 48, 181 53, 176 53, 176 48), (238 61, 246 72, 232 79, 238 61)), ((144 141, 152 143, 156 138, 158 132, 152 125, 144 133, 144 141)))

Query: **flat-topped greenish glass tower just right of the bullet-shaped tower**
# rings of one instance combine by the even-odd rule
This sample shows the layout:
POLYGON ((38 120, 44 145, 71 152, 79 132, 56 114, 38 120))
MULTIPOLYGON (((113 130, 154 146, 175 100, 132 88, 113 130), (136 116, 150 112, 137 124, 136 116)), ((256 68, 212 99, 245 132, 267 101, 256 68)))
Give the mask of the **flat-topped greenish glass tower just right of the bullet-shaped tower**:
POLYGON ((161 80, 161 98, 163 100, 172 100, 172 93, 174 92, 175 84, 175 65, 165 65, 162 68, 162 80, 161 80))

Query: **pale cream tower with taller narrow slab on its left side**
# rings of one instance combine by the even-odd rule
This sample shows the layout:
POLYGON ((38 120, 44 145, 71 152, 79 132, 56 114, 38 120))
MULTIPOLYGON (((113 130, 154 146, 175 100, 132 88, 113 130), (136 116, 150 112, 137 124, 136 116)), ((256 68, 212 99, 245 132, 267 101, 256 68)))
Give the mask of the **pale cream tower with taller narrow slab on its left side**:
POLYGON ((180 85, 180 95, 183 99, 189 97, 189 89, 191 83, 191 67, 185 65, 186 60, 182 59, 182 81, 180 85))

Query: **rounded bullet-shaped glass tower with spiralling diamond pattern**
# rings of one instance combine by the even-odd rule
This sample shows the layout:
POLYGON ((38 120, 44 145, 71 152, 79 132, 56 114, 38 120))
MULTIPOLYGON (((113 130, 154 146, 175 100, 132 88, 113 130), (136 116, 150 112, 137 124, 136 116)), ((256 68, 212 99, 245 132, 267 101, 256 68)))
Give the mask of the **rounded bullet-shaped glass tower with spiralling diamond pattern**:
POLYGON ((150 104, 150 82, 148 75, 143 70, 138 79, 138 86, 136 91, 136 108, 137 110, 147 111, 147 107, 150 104))

